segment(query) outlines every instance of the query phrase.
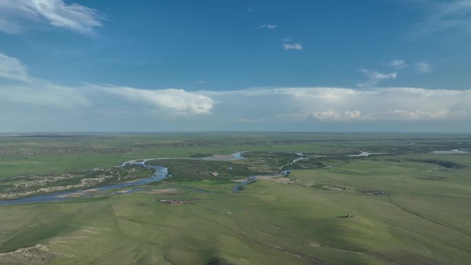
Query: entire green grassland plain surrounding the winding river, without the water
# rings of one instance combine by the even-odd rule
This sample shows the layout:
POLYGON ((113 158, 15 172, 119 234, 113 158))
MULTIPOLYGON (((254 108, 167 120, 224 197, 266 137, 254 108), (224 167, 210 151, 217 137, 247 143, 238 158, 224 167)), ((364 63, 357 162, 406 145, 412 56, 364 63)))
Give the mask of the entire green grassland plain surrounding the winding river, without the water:
POLYGON ((228 162, 154 160, 174 177, 135 193, 0 206, 2 265, 23 264, 26 255, 30 264, 71 265, 471 260, 471 155, 428 154, 469 149, 470 136, 118 134, 3 137, 0 143, 5 179, 249 151, 246 160, 228 162), (390 154, 346 156, 361 151, 390 154), (328 157, 286 167, 290 182, 275 176, 232 192, 231 180, 280 173, 298 158, 293 152, 328 157), (162 204, 162 198, 187 203, 162 204))

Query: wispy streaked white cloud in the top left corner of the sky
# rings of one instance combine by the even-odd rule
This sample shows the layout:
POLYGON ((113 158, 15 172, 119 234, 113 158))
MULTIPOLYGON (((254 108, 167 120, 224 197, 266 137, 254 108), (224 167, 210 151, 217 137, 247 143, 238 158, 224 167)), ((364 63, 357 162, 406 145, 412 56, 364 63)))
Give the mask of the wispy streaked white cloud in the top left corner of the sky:
POLYGON ((63 0, 1 0, 0 30, 18 34, 25 23, 47 21, 50 25, 67 28, 82 34, 93 34, 101 27, 103 15, 92 8, 77 3, 66 4, 63 0), (6 23, 8 21, 8 23, 6 23))

